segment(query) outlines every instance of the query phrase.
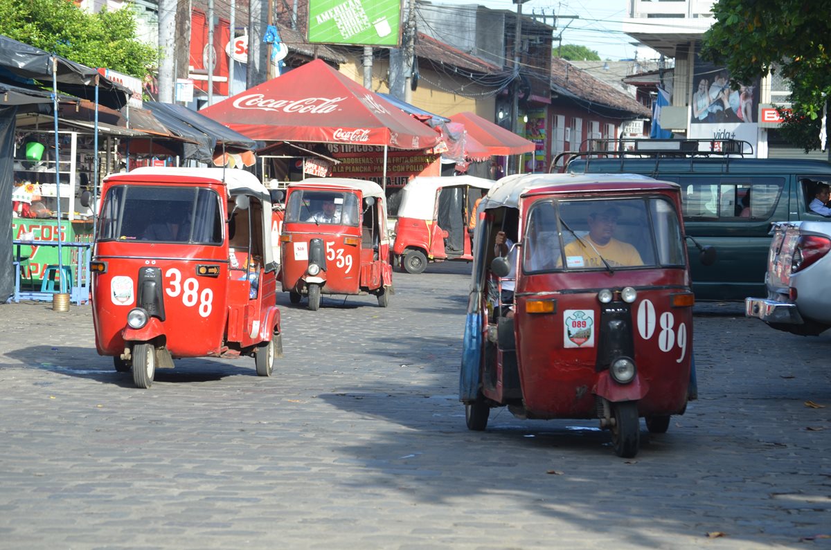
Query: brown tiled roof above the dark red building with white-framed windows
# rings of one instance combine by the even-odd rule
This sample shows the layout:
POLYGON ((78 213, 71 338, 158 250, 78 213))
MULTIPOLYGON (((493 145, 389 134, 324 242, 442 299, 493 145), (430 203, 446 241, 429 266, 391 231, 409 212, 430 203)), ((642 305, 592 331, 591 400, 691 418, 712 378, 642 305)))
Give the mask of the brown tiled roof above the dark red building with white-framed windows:
POLYGON ((551 89, 559 96, 571 98, 578 103, 621 110, 637 116, 652 116, 652 111, 632 96, 597 80, 560 57, 551 60, 551 89))

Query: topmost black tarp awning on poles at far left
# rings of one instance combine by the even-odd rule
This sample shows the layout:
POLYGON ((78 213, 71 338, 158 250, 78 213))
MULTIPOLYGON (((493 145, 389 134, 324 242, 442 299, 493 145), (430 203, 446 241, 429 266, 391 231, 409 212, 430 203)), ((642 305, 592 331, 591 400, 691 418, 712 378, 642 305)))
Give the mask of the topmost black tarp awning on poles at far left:
POLYGON ((96 69, 4 36, 0 36, 0 81, 35 89, 37 85, 52 88, 53 57, 57 60, 59 91, 95 101, 97 82, 98 102, 101 105, 113 109, 127 105, 130 90, 101 76, 96 69))

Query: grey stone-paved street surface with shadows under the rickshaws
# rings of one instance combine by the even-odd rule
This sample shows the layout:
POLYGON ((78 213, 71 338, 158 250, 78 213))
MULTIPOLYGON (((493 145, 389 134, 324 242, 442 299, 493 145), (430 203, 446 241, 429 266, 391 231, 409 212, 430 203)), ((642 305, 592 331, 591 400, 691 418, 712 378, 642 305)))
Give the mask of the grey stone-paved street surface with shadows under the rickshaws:
POLYGON ((465 428, 469 272, 396 273, 386 309, 281 294, 273 377, 150 390, 89 307, 0 306, 0 548, 831 548, 831 335, 696 306, 700 400, 619 459, 593 421, 465 428))

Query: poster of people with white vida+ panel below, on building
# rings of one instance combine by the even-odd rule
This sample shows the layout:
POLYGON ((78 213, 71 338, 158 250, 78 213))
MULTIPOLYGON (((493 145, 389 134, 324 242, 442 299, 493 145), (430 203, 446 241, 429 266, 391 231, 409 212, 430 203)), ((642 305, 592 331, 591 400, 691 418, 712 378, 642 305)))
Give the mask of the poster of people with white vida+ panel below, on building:
POLYGON ((730 86, 730 73, 696 56, 690 101, 694 139, 744 140, 745 156, 755 156, 758 140, 760 80, 730 86))

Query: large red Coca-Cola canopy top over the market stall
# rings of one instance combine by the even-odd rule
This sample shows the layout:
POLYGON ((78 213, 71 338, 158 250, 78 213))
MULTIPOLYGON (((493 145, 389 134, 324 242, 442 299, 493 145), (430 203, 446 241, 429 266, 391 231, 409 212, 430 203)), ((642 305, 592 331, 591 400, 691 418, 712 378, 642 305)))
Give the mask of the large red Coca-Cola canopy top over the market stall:
POLYGON ((440 135, 322 60, 199 110, 253 140, 429 149, 440 135))

